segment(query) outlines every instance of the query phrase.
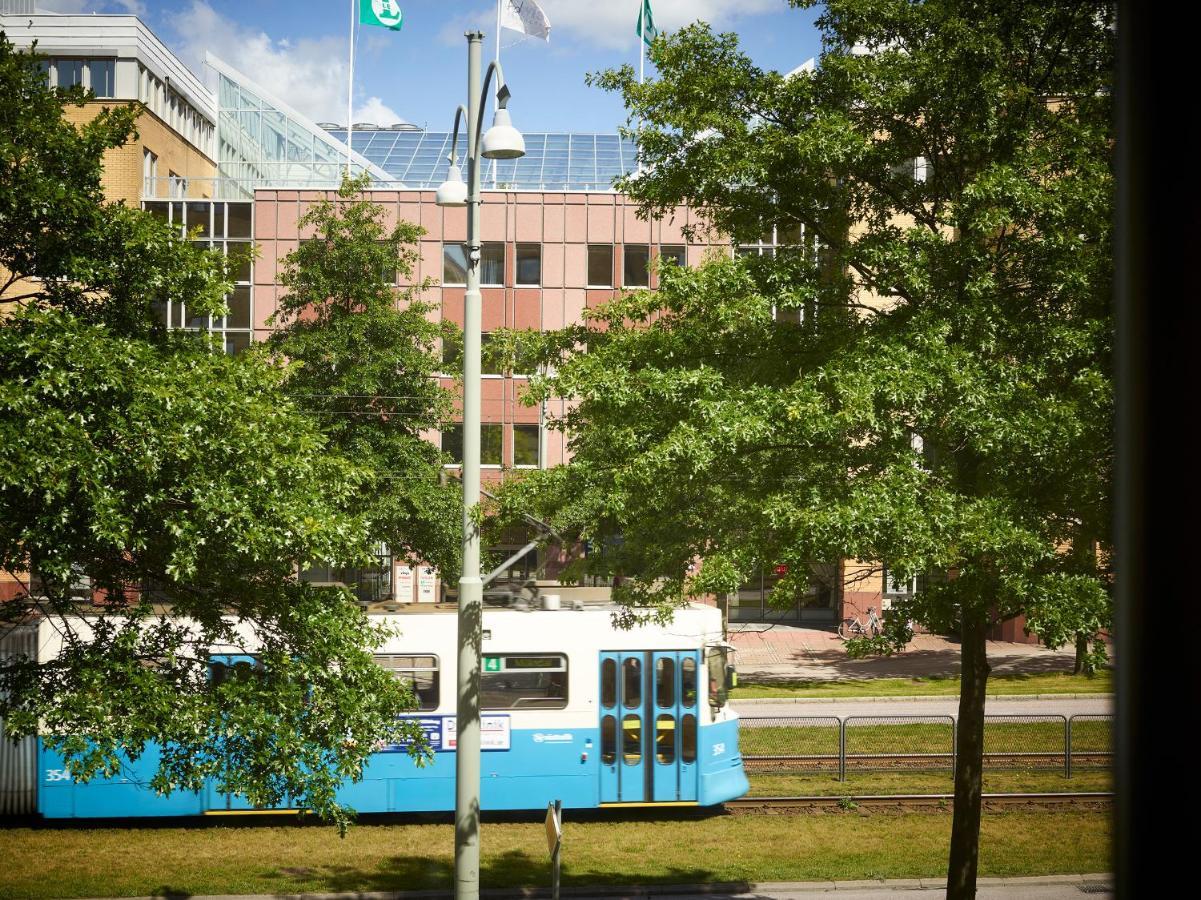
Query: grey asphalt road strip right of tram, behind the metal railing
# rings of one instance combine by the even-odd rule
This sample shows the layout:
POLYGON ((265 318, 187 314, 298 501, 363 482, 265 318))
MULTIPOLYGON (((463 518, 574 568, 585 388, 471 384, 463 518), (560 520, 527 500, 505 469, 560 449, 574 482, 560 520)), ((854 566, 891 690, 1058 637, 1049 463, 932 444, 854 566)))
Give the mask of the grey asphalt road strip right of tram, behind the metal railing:
MULTIPOLYGON (((751 716, 954 716, 958 697, 835 699, 835 701, 730 701, 743 719, 751 716)), ((1095 697, 990 697, 986 715, 1109 715, 1110 695, 1095 697)))

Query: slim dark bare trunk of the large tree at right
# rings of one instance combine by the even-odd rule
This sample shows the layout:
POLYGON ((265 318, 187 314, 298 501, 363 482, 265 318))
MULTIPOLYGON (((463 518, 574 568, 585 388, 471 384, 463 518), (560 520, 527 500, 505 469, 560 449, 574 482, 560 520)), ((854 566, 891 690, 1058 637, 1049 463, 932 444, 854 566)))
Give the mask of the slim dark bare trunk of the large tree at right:
POLYGON ((975 898, 980 862, 980 794, 984 774, 984 702, 988 684, 987 613, 964 610, 960 719, 956 728, 955 817, 946 866, 948 900, 975 898))

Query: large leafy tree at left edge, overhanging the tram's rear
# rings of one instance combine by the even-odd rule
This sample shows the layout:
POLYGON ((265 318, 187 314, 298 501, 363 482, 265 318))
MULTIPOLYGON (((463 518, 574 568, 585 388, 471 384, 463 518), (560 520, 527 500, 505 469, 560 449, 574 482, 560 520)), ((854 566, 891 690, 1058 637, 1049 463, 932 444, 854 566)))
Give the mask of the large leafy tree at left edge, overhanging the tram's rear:
POLYGON ((365 558, 347 508, 364 472, 285 394, 285 368, 168 332, 165 299, 222 315, 228 263, 104 203, 118 107, 74 127, 30 54, 0 35, 0 566, 24 590, 0 633, 49 622, 60 651, 0 664, 0 716, 80 780, 159 749, 151 786, 285 798, 345 824, 337 786, 411 692, 376 666, 383 634, 316 559, 365 558), (247 652, 215 679, 210 654, 247 652))

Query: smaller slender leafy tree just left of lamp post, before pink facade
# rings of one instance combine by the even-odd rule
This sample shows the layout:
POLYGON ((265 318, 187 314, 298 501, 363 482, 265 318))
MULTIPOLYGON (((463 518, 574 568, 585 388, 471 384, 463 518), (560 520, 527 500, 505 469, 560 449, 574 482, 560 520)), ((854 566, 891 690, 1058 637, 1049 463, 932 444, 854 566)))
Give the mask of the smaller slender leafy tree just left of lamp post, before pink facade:
POLYGON ((412 276, 424 232, 404 221, 386 227, 365 186, 366 179, 346 180, 336 199, 313 203, 301 217, 313 237, 283 261, 287 293, 267 346, 292 363, 287 391, 364 472, 352 508, 372 541, 453 574, 460 494, 456 483, 443 483, 442 454, 423 431, 450 417, 437 341, 458 329, 431 321, 435 308, 420 299, 429 280, 394 287, 398 276, 412 276))

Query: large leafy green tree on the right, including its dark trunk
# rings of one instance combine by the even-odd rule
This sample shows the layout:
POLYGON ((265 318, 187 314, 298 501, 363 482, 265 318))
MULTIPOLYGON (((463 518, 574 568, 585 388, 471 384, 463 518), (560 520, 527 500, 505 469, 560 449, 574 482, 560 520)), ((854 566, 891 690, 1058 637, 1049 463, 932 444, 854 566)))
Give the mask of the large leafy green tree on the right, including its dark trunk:
POLYGON ((829 0, 817 23, 812 73, 695 25, 656 41, 656 81, 593 78, 641 123, 619 189, 643 215, 687 203, 791 246, 665 267, 657 294, 510 340, 550 372, 531 403, 573 401, 573 458, 506 502, 604 547, 644 613, 772 564, 785 600, 815 561, 927 576, 882 643, 910 619, 961 637, 968 898, 990 627, 1024 615, 1058 645, 1110 620, 1113 11, 829 0))

